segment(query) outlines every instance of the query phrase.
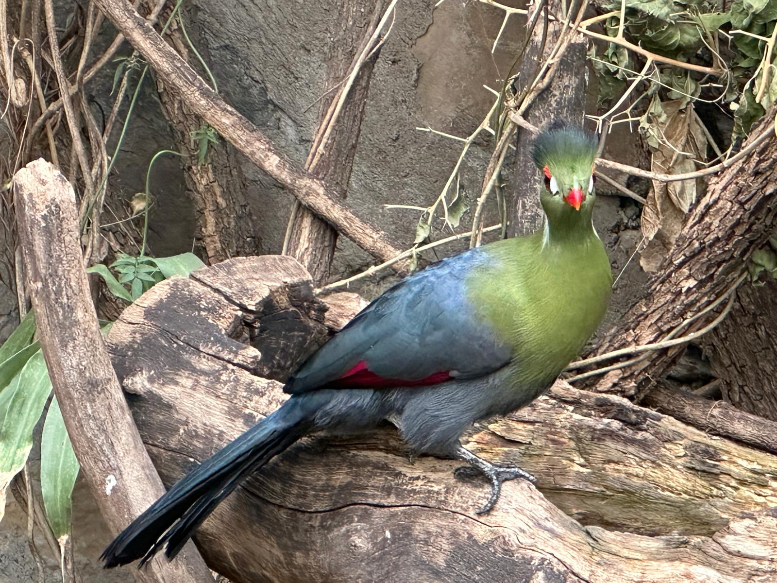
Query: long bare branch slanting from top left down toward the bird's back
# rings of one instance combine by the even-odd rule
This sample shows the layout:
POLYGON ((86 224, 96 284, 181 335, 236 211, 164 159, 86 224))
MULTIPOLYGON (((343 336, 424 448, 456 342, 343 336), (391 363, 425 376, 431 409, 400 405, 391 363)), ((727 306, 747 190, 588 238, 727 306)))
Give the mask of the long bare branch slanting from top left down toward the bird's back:
POLYGON ((400 253, 388 242, 384 232, 354 215, 321 180, 292 166, 258 127, 214 93, 130 5, 120 0, 95 1, 154 68, 159 79, 176 90, 187 107, 214 127, 256 166, 291 190, 302 204, 374 257, 388 260, 400 253))

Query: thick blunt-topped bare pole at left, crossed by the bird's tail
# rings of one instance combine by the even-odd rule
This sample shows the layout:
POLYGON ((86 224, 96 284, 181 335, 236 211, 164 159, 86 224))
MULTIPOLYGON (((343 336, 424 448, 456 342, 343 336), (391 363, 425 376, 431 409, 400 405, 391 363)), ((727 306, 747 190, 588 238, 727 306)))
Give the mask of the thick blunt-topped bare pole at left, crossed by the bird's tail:
MULTIPOLYGON (((113 532, 165 493, 127 407, 89 295, 75 194, 42 159, 14 176, 16 221, 40 345, 73 449, 113 532)), ((193 546, 156 559, 138 581, 211 580, 193 546)))

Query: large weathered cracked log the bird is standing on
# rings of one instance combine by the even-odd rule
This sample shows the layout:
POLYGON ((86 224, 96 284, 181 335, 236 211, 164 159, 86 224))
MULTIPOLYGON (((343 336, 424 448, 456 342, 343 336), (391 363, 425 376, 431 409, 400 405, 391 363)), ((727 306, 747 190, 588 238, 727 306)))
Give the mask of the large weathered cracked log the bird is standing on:
MULTIPOLYGON (((168 484, 284 400, 280 382, 253 374, 283 352, 284 330, 248 346, 249 329, 267 317, 309 325, 312 347, 326 334, 321 316, 290 257, 229 260, 164 281, 125 310, 110 351, 168 484)), ((411 461, 390 427, 313 437, 228 497, 197 543, 238 582, 777 577, 777 457, 768 452, 561 383, 465 444, 521 463, 539 490, 507 483, 479 516, 486 484, 455 480, 459 463, 411 461)))

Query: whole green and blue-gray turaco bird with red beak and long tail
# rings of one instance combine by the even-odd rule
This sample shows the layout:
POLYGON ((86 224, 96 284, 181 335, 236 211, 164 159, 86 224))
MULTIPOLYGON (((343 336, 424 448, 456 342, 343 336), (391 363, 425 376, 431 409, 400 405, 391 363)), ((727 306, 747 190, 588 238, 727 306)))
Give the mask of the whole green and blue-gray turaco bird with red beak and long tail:
MULTIPOLYGON (((315 351, 284 386, 289 399, 204 461, 103 552, 106 567, 172 558, 250 473, 304 435, 353 433, 385 420, 413 452, 461 459, 487 478, 534 481, 462 447, 475 421, 545 392, 597 329, 611 271, 594 231, 596 143, 556 127, 535 140, 545 226, 442 260, 395 285, 315 351)), ((281 459, 281 463, 282 463, 281 459)))

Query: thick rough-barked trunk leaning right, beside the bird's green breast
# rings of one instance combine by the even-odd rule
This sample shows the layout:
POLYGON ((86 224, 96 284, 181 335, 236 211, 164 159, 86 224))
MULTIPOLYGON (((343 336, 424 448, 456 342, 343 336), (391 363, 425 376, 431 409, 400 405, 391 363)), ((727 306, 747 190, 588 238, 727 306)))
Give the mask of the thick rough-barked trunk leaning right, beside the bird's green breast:
MULTIPOLYGON (((766 113, 765 121, 751 135, 767 130, 774 113, 774 110, 766 113)), ((600 353, 661 340, 675 326, 731 288, 747 269, 750 254, 777 229, 777 205, 773 203, 777 193, 775 162, 777 138, 772 136, 740 163, 709 181, 706 197, 688 215, 673 250, 647 285, 645 295, 608 333, 600 353)), ((747 298, 748 293, 744 293, 747 298)), ((685 333, 705 326, 713 318, 714 314, 697 320, 685 333)), ((729 348, 721 346, 720 350, 733 358, 747 351, 749 344, 737 351, 729 348)), ((653 353, 629 368, 594 378, 587 386, 625 395, 645 393, 650 389, 650 379, 664 375, 681 351, 682 347, 675 347, 653 353)), ((775 394, 774 376, 759 374, 758 379, 762 384, 761 394, 775 394)))

